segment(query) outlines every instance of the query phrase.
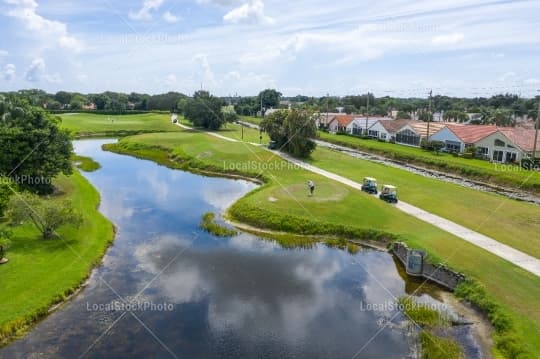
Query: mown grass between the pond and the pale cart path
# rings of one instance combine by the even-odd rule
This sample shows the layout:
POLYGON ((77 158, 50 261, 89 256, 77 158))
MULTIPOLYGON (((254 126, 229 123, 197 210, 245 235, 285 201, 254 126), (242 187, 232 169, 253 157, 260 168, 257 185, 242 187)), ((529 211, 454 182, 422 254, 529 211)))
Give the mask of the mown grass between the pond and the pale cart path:
MULTIPOLYGON (((242 143, 230 143, 187 131, 144 134, 125 138, 122 142, 159 145, 171 153, 182 153, 225 170, 240 167, 258 173, 262 169, 269 183, 235 204, 264 211, 267 216, 259 218, 258 224, 266 221, 276 228, 281 220, 286 226, 284 221, 293 216, 306 222, 377 229, 399 235, 410 246, 426 249, 434 257, 485 285, 488 292, 511 313, 517 333, 529 350, 540 352, 540 312, 536 310, 540 305, 540 278, 376 198, 310 172, 291 168, 260 147, 247 148, 242 143), (305 185, 308 179, 317 184, 314 197, 308 196, 305 185)), ((324 154, 321 152, 319 156, 316 153, 315 161, 331 161, 321 158, 324 154)), ((152 157, 151 150, 147 155, 152 157)), ((391 176, 389 174, 388 178, 391 176)), ((403 195, 413 198, 412 189, 403 195)), ((484 200, 489 202, 489 199, 484 200)), ((531 237, 529 232, 529 240, 531 237)))

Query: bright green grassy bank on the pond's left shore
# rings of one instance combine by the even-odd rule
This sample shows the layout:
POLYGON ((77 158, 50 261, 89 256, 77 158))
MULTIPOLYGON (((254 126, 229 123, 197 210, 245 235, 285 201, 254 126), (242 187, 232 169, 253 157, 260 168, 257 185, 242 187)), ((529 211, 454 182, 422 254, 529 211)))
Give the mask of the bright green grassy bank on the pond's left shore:
POLYGON ((48 309, 72 294, 97 265, 114 238, 112 224, 97 210, 99 194, 78 172, 55 185, 83 215, 78 228, 64 226, 60 239, 44 241, 30 224, 13 230, 8 264, 0 266, 0 344, 24 334, 48 309))

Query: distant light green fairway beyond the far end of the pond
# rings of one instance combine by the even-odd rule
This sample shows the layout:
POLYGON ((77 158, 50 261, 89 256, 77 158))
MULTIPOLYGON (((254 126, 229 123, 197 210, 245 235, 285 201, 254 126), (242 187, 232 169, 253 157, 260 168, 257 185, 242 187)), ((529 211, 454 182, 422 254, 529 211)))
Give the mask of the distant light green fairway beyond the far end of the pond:
POLYGON ((61 115, 61 126, 77 136, 125 136, 145 132, 177 131, 171 116, 161 113, 138 115, 99 115, 75 113, 61 115))

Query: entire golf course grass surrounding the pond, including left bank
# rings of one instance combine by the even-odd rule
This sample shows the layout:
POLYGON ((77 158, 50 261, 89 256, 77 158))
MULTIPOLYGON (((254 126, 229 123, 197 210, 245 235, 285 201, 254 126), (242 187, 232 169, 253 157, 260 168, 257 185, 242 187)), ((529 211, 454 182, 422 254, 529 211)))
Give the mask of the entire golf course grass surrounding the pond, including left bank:
MULTIPOLYGON (((182 117, 179 122, 191 126, 182 117)), ((119 138, 117 143, 103 146, 111 152, 172 169, 256 181, 260 187, 221 214, 233 223, 273 231, 277 237, 290 234, 287 243, 297 238, 302 245, 308 239, 319 238, 328 243, 359 240, 385 246, 400 240, 411 248, 425 250, 430 262, 443 263, 468 278, 456 289, 456 296, 471 302, 493 324, 494 357, 532 358, 531 353, 540 352, 540 313, 536 310, 539 277, 373 196, 291 164, 259 145, 267 144, 269 138, 263 133, 261 139, 257 129, 228 123, 209 134, 172 124, 170 115, 159 113, 65 114, 61 116, 61 126, 79 138, 119 138), (308 181, 315 183, 314 195, 309 193, 308 181)), ((77 156, 72 160, 83 170, 100 167, 89 157, 77 156)), ((540 257, 540 240, 531 236, 540 231, 536 205, 327 148, 317 148, 306 162, 353 181, 361 182, 370 176, 377 178, 379 184, 393 184, 400 200, 540 257)), ((59 176, 55 185, 59 193, 54 200, 70 198, 84 213, 83 225, 79 230, 63 227, 59 233, 61 241, 45 244, 38 239, 28 240, 38 237, 33 227, 16 228, 9 257, 18 266, 6 267, 3 278, 7 280, 4 289, 9 297, 19 299, 12 300, 8 310, 0 315, 0 339, 4 343, 24 334, 46 315, 51 305, 73 293, 99 263, 114 236, 113 226, 97 211, 98 193, 84 177, 75 171, 69 177, 59 176), (83 260, 70 255, 72 251, 83 260), (29 252, 32 256, 26 255, 29 252), (41 259, 36 262, 36 258, 41 259), (29 294, 25 283, 30 282, 35 283, 32 293, 38 290, 39 295, 29 294)), ((213 214, 208 218, 213 219, 213 214)), ((206 226, 214 224, 207 221, 206 226)))

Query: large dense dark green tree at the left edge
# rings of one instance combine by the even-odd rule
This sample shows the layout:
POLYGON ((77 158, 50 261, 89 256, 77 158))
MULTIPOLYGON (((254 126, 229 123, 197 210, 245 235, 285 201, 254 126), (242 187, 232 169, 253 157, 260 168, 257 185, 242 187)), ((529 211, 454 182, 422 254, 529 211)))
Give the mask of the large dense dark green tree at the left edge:
POLYGON ((0 98, 0 173, 21 189, 50 193, 52 179, 72 171, 73 147, 58 123, 40 108, 0 98))

